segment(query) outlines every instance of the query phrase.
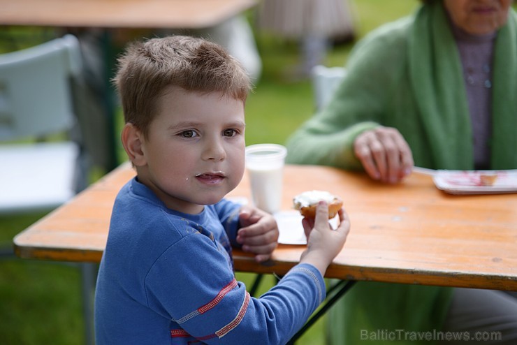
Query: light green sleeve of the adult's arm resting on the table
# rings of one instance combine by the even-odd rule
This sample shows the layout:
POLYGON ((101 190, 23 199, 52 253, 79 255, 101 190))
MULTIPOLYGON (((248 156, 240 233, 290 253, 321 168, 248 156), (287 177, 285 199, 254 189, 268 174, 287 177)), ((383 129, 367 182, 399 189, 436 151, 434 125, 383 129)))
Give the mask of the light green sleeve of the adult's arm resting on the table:
POLYGON ((361 168, 354 154, 354 140, 383 122, 391 89, 405 59, 401 56, 405 52, 405 25, 407 20, 391 23, 356 45, 347 74, 328 105, 288 139, 288 163, 361 168), (393 30, 393 26, 401 29, 393 30))

